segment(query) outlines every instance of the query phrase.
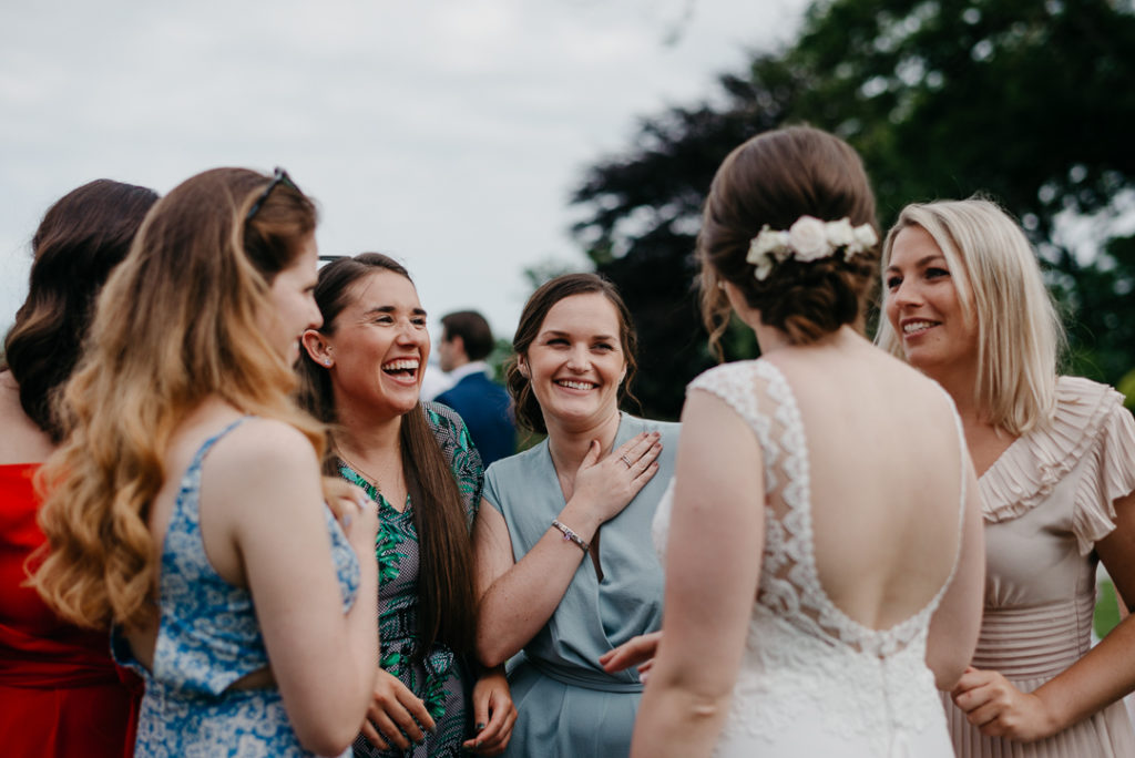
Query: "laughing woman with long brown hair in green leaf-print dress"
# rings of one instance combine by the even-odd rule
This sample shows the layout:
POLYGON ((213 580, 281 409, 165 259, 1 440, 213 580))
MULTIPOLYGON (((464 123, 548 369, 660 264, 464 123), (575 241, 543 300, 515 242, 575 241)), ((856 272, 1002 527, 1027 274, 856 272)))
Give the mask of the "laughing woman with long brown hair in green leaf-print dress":
POLYGON ((501 668, 473 671, 470 528, 485 474, 461 416, 421 403, 426 311, 405 268, 378 253, 325 266, 323 326, 309 330, 304 402, 331 426, 326 473, 378 503, 378 683, 355 756, 498 755, 515 709, 501 668))

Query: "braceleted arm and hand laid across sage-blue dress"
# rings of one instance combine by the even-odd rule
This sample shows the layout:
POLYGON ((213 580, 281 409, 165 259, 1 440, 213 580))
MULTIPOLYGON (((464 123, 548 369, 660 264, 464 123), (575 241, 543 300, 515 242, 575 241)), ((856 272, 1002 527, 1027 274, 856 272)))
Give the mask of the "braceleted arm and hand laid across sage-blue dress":
MULTIPOLYGON (((599 525, 620 513, 658 470, 656 432, 639 435, 598 461, 599 445, 575 474, 575 491, 557 519, 590 542, 599 525), (621 456, 632 462, 627 466, 621 456)), ((491 668, 536 637, 555 612, 587 556, 548 522, 548 530, 520 561, 513 558, 504 516, 484 503, 473 525, 480 607, 477 654, 491 668)))

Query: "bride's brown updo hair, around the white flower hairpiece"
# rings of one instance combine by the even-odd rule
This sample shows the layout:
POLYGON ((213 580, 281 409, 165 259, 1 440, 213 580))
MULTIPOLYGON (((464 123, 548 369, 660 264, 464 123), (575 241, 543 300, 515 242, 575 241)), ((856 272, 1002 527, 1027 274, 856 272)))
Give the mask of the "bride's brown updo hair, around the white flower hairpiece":
POLYGON ((698 235, 701 312, 717 345, 731 308, 720 283, 729 281, 760 320, 804 345, 856 323, 878 269, 878 249, 844 260, 789 259, 758 280, 746 261, 749 244, 766 225, 788 230, 801 216, 847 218, 877 233, 875 196, 863 161, 839 137, 807 126, 766 132, 734 149, 714 176, 698 235))

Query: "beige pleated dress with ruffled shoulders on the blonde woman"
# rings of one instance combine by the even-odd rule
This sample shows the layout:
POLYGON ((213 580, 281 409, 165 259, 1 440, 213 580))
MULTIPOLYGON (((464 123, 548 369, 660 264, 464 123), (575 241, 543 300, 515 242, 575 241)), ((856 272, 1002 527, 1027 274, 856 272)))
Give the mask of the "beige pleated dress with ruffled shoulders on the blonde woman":
MULTIPOLYGON (((1091 647, 1093 547, 1115 529, 1113 502, 1135 490, 1135 420, 1123 396, 1061 377, 1057 403, 1053 424, 1017 439, 980 481, 986 584, 974 666, 1001 672, 1025 692, 1091 647)), ((1024 744, 983 736, 948 696, 943 700, 960 758, 1135 756, 1121 701, 1024 744)))

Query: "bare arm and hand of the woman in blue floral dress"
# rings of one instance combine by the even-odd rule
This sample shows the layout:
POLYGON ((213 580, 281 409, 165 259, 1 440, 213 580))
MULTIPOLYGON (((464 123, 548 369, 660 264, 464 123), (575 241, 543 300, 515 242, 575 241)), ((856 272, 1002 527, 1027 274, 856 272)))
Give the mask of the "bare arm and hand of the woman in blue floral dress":
POLYGON ((219 481, 210 489, 227 500, 292 727, 306 749, 336 755, 359 732, 378 668, 377 509, 364 500, 351 514, 336 504, 360 565, 355 601, 344 615, 314 450, 285 424, 249 426, 251 433, 217 462, 219 481))

